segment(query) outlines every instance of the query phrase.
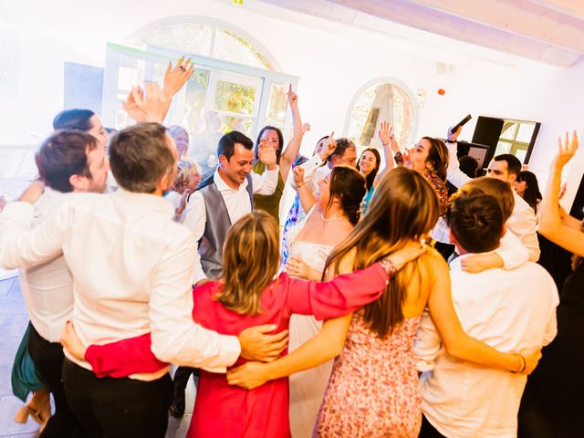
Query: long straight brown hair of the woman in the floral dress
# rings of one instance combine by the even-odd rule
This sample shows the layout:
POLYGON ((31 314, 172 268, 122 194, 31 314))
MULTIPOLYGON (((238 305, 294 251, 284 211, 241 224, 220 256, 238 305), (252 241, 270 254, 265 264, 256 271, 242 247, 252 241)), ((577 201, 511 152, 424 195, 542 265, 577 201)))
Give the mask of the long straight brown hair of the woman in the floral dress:
MULTIPOLYGON (((347 238, 337 245, 325 266, 339 274, 341 260, 354 252, 353 269, 370 266, 411 240, 427 238, 438 221, 438 198, 418 172, 397 167, 387 172, 371 200, 369 212, 347 238)), ((434 275, 422 255, 408 263, 389 283, 381 297, 365 306, 363 318, 381 338, 403 320, 408 287, 417 280, 419 290, 433 284, 434 275)))

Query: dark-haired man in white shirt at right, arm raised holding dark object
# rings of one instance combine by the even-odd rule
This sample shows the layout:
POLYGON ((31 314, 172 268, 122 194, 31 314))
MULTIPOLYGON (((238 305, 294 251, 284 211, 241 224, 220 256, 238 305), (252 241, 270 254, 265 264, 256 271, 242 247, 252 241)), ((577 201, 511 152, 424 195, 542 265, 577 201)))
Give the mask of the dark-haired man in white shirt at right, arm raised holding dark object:
MULTIPOLYGON (((472 179, 460 170, 460 165, 456 158, 456 150, 458 148, 456 139, 461 130, 462 128, 459 127, 454 134, 448 130, 448 139, 446 140, 446 145, 448 146, 448 152, 450 154, 447 179, 456 188, 462 187, 472 179)), ((519 159, 514 155, 505 153, 497 155, 489 163, 486 176, 508 183, 513 189, 513 183, 517 179, 519 172, 521 172, 521 162, 519 159)), ((539 260, 540 251, 539 241, 537 240, 536 214, 529 204, 526 203, 524 199, 515 192, 515 190, 513 191, 513 196, 515 198, 515 207, 513 209, 513 214, 511 214, 511 217, 509 217, 509 220, 506 223, 506 226, 527 248, 527 251, 529 252, 529 260, 537 262, 537 260, 539 260)))

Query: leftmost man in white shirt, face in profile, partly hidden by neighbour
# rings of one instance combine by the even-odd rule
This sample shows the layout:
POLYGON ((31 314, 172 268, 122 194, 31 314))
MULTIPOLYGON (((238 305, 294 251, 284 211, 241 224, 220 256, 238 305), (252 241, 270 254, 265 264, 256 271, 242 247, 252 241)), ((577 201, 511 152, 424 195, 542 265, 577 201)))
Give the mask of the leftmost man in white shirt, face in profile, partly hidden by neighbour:
MULTIPOLYGON (((45 188, 34 206, 33 227, 55 213, 68 193, 102 193, 106 188, 110 165, 105 148, 89 133, 56 132, 42 144, 36 162, 45 188)), ((28 352, 55 400, 55 414, 41 436, 72 436, 78 422, 61 381, 64 356, 59 338, 73 311, 73 278, 63 256, 58 256, 21 269, 20 284, 31 321, 28 352)))

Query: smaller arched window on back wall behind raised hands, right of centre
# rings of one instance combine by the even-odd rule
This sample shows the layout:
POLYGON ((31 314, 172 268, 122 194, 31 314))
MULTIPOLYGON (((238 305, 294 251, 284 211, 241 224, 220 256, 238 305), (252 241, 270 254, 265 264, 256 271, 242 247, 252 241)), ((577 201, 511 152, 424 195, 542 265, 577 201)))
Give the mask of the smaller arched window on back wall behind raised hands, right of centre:
POLYGON ((412 141, 418 122, 416 100, 395 78, 376 79, 359 90, 349 107, 345 131, 360 148, 381 148, 377 132, 386 120, 401 147, 412 141))

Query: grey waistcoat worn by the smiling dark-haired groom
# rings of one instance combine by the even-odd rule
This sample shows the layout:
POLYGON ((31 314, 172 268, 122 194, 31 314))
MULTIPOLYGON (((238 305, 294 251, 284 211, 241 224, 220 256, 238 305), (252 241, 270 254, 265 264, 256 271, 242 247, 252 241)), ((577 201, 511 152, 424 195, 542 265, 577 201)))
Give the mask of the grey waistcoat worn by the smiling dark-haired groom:
MULTIPOLYGON (((254 188, 252 177, 247 175, 247 193, 254 210, 254 188)), ((199 241, 199 255, 205 276, 211 279, 219 278, 223 273, 223 245, 227 231, 231 227, 231 219, 227 213, 223 196, 214 183, 214 175, 201 183, 199 190, 203 195, 206 210, 206 224, 203 237, 199 241)))

